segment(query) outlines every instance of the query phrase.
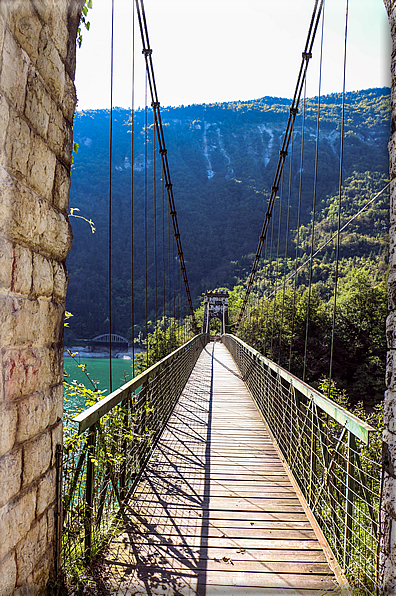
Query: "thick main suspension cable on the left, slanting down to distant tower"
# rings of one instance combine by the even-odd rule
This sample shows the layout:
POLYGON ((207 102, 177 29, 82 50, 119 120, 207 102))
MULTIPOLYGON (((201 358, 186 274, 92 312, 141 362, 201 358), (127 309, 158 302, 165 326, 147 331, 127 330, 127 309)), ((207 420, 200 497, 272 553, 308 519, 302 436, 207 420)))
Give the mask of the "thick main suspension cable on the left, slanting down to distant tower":
POLYGON ((188 284, 186 265, 184 262, 183 249, 182 249, 182 244, 181 244, 181 240, 180 240, 179 225, 178 225, 178 221, 177 221, 177 212, 176 212, 175 200, 174 200, 174 196, 173 196, 173 185, 172 185, 170 171, 169 171, 167 149, 166 149, 166 145, 165 145, 165 137, 164 137, 164 131, 163 131, 163 127, 162 127, 160 103, 158 100, 157 87, 155 84, 154 68, 153 68, 153 61, 152 61, 152 49, 150 48, 146 15, 145 15, 145 11, 144 11, 144 4, 143 4, 143 0, 135 0, 135 1, 136 1, 136 9, 137 9, 137 15, 138 15, 138 20, 139 20, 139 26, 140 26, 140 33, 141 33, 141 37, 142 37, 143 54, 144 54, 144 57, 146 60, 146 70, 147 70, 147 76, 148 76, 148 82, 149 82, 150 94, 151 94, 151 100, 152 100, 152 106, 153 106, 153 112, 154 112, 155 128, 156 128, 157 136, 158 136, 159 154, 161 155, 161 159, 162 159, 162 170, 163 170, 163 176, 165 177, 165 188, 168 193, 170 214, 172 216, 173 232, 174 232, 174 237, 176 240, 177 252, 178 252, 179 261, 180 261, 180 268, 181 268, 182 275, 183 275, 184 287, 185 287, 186 294, 187 294, 187 299, 188 299, 188 304, 190 307, 193 326, 194 326, 195 332, 198 333, 198 325, 197 325, 197 322, 195 319, 194 307, 193 307, 193 303, 192 303, 192 299, 191 299, 190 287, 188 284))

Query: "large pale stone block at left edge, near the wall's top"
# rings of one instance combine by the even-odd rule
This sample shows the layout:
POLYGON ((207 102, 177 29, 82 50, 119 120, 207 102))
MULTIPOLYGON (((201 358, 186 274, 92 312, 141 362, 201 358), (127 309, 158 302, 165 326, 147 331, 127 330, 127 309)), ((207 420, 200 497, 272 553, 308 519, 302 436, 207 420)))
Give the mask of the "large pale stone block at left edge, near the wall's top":
POLYGON ((28 58, 6 29, 3 43, 3 66, 0 74, 0 90, 23 112, 25 105, 28 58))

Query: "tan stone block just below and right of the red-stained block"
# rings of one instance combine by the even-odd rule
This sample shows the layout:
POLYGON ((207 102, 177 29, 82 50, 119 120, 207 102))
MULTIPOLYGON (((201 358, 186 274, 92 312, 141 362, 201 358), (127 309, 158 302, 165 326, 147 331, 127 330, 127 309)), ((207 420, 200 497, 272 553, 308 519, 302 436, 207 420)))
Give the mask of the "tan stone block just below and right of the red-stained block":
POLYGON ((52 400, 37 392, 18 402, 17 441, 23 443, 41 434, 48 426, 52 400))

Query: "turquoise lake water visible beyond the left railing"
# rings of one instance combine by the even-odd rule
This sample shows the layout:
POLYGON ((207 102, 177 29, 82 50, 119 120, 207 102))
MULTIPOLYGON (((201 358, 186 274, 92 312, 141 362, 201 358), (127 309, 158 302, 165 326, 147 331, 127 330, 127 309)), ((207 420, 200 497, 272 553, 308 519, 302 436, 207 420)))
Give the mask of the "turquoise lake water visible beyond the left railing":
MULTIPOLYGON (((80 358, 81 364, 87 365, 87 372, 90 378, 98 383, 98 388, 104 390, 108 395, 110 392, 110 358, 80 358)), ((121 358, 111 359, 113 391, 124 385, 127 381, 132 379, 132 360, 122 360, 121 358)), ((81 368, 78 367, 77 362, 73 358, 65 356, 65 370, 70 375, 68 382, 76 380, 78 383, 83 383, 86 387, 92 388, 81 368)), ((68 402, 70 403, 70 402, 68 402)), ((65 408, 68 407, 65 403, 65 408)), ((83 406, 83 403, 70 403, 70 406, 83 406)))

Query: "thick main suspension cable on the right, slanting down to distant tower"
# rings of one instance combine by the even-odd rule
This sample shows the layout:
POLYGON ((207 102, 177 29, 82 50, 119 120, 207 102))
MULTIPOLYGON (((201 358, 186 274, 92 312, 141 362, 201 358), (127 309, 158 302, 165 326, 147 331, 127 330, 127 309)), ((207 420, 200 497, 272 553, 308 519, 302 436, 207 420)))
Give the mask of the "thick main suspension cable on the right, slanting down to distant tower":
POLYGON ((238 328, 239 323, 243 317, 243 313, 245 312, 245 308, 246 308, 246 305, 247 305, 247 302, 249 299, 249 294, 250 294, 250 291, 251 291, 251 288, 252 288, 252 285, 254 282, 254 278, 255 278, 257 269, 258 269, 258 264, 259 264, 260 257, 261 257, 263 243, 264 243, 265 237, 267 235, 269 222, 270 222, 270 219, 272 216, 272 210, 274 207, 275 197, 276 197, 276 194, 279 189, 280 178, 281 178, 284 162, 285 162, 286 155, 287 155, 290 138, 291 138, 291 135, 293 134, 294 121, 295 121, 296 115, 298 113, 298 106, 299 106, 299 102, 300 102, 302 89, 304 86, 304 81, 305 81, 306 74, 307 74, 309 60, 312 58, 312 48, 313 48, 313 43, 315 41, 315 36, 316 36, 318 24, 319 24, 320 15, 322 12, 323 2, 324 2, 324 0, 315 0, 311 23, 310 23, 309 30, 308 30, 308 36, 307 36, 307 40, 305 43, 305 49, 304 49, 304 52, 302 53, 301 66, 300 66, 300 71, 299 71, 299 74, 297 77, 297 84, 296 84, 296 88, 295 88, 295 92, 294 92, 294 96, 293 96, 293 101, 292 101, 292 105, 289 109, 289 117, 287 120, 286 131, 285 131, 285 134, 283 137, 282 148, 279 152, 279 160, 278 160, 278 165, 276 168, 274 182, 273 182, 272 188, 271 188, 271 196, 269 198, 267 212, 265 214, 264 223, 263 223, 263 227, 261 230, 260 239, 259 239, 259 243, 258 243, 258 247, 257 247, 257 251, 256 251, 256 256, 254 259, 252 271, 250 273, 249 281, 247 284, 246 294, 243 299, 241 310, 239 312, 238 320, 236 323, 236 328, 238 328))

